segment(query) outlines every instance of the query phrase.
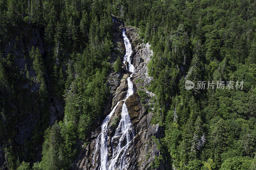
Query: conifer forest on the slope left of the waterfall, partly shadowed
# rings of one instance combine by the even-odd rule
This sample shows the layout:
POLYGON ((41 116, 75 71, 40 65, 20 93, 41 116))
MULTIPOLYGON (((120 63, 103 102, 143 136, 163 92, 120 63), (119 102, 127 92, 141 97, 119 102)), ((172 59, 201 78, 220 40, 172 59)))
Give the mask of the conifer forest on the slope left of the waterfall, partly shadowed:
POLYGON ((108 60, 113 33, 108 4, 0 0, 0 147, 5 148, 4 168, 31 168, 41 159, 41 150, 42 162, 34 163, 34 169, 72 166, 77 142, 84 140, 109 96, 106 77, 111 68, 108 60), (56 112, 56 123, 47 129, 53 100, 65 111, 64 115, 56 112), (33 121, 33 126, 26 121, 33 121), (17 127, 27 126, 32 132, 23 144, 13 142, 20 133, 17 127))

